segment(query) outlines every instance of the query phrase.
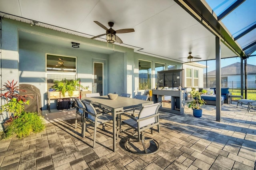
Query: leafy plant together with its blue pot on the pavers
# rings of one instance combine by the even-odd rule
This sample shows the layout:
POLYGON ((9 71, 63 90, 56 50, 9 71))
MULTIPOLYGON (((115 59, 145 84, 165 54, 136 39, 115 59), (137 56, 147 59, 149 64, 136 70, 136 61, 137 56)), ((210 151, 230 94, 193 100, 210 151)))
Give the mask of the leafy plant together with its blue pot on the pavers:
POLYGON ((192 97, 192 101, 188 102, 188 108, 193 109, 194 117, 202 117, 202 109, 200 106, 206 104, 204 99, 201 99, 201 93, 198 92, 194 87, 192 88, 190 95, 192 97))

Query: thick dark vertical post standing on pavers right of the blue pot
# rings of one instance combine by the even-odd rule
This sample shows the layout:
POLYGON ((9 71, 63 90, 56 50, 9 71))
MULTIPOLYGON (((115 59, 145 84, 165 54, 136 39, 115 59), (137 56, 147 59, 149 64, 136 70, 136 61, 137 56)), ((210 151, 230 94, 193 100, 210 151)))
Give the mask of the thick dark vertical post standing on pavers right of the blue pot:
POLYGON ((215 55, 216 55, 216 121, 220 122, 221 113, 221 73, 220 73, 220 38, 215 37, 215 55))

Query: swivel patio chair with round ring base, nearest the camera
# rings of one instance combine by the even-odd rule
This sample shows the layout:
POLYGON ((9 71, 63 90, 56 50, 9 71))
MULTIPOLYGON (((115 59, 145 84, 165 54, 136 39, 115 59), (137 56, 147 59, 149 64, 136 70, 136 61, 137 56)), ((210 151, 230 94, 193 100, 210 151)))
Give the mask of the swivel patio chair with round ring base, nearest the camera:
POLYGON ((122 127, 120 127, 120 131, 130 137, 125 142, 125 148, 129 152, 143 155, 153 154, 158 151, 159 143, 153 138, 145 138, 144 132, 148 129, 151 130, 151 134, 153 134, 153 130, 160 132, 158 109, 161 105, 162 103, 155 103, 142 107, 138 117, 132 117, 130 115, 122 113, 122 115, 130 118, 122 121, 120 124, 120 126, 128 126, 128 128, 126 128, 125 130, 122 130, 122 127), (157 129, 153 128, 155 126, 157 126, 157 129), (133 131, 132 133, 131 129, 133 129, 135 132, 133 131), (133 138, 134 140, 131 140, 131 138, 133 138), (144 150, 140 150, 140 148, 142 147, 137 148, 136 146, 138 146, 138 144, 135 144, 134 142, 141 142, 144 150))

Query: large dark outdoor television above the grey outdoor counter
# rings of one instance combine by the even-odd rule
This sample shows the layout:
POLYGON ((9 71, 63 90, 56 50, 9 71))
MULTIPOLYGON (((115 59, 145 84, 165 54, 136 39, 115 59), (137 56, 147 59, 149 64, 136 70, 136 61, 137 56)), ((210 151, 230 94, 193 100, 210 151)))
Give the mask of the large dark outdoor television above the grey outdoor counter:
POLYGON ((183 87, 184 69, 157 72, 158 87, 183 87))

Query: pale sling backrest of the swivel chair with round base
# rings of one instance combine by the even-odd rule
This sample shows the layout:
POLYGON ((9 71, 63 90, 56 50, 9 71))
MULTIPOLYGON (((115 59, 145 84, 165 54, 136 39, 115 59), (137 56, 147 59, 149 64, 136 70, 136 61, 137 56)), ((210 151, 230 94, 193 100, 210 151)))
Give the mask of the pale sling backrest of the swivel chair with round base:
POLYGON ((158 123, 159 119, 158 119, 158 117, 156 117, 154 115, 157 114, 158 109, 160 108, 161 105, 162 105, 162 103, 154 103, 152 105, 143 106, 138 115, 138 120, 146 118, 146 117, 148 117, 148 119, 140 121, 138 128, 142 128, 147 125, 151 125, 153 123, 158 123))

